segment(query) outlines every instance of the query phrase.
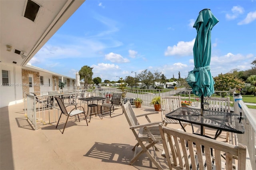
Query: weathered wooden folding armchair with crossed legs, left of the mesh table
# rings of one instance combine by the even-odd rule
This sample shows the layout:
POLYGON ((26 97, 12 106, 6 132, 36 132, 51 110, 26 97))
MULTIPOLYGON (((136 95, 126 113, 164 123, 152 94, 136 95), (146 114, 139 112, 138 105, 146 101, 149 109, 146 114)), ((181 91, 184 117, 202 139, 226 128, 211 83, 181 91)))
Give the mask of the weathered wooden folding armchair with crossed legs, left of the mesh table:
POLYGON ((148 151, 148 149, 150 149, 152 147, 154 150, 154 156, 156 156, 154 145, 161 141, 159 126, 158 126, 159 123, 161 123, 161 122, 151 123, 150 119, 147 117, 150 114, 156 114, 158 112, 146 113, 143 115, 136 116, 132 109, 132 105, 130 104, 130 101, 128 101, 127 103, 122 105, 122 109, 123 109, 124 115, 128 121, 128 124, 130 126, 130 129, 132 130, 136 140, 138 141, 138 143, 132 149, 132 150, 134 150, 134 157, 130 161, 130 165, 132 165, 139 158, 139 156, 141 154, 146 153, 148 158, 150 158, 150 160, 152 160, 154 165, 158 169, 162 169, 160 164, 158 164, 156 159, 148 151), (146 119, 149 121, 149 123, 140 125, 140 123, 137 120, 137 117, 142 117, 142 116, 145 116, 146 119), (137 130, 138 130, 138 132, 137 132, 137 130), (144 142, 146 142, 146 143, 148 142, 149 144, 146 145, 146 143, 144 144, 144 142), (141 146, 142 150, 140 152, 136 153, 137 147, 139 145, 141 146))

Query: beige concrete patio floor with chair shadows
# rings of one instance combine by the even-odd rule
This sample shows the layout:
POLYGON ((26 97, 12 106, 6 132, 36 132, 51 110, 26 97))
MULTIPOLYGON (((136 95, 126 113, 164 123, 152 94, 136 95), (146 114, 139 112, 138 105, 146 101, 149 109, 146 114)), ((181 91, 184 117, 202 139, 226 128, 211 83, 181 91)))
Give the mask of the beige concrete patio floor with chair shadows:
MULTIPOLYGON (((136 115, 154 112, 154 107, 134 108, 136 115)), ((151 121, 161 121, 161 113, 149 116, 151 121)), ((147 123, 144 117, 140 124, 147 123)), ((169 125, 168 125, 169 126, 169 125)), ((180 125, 170 125, 180 128, 180 125)), ((24 103, 0 108, 0 169, 1 170, 150 170, 156 169, 146 154, 140 156, 132 166, 135 137, 129 129, 121 107, 112 117, 103 119, 92 116, 91 122, 68 122, 49 125, 34 130, 24 115, 24 103)), ((206 133, 214 134, 212 130, 206 133)), ((225 141, 222 132, 218 140, 225 141)), ((161 156, 162 145, 157 152, 157 161, 168 169, 161 156)))

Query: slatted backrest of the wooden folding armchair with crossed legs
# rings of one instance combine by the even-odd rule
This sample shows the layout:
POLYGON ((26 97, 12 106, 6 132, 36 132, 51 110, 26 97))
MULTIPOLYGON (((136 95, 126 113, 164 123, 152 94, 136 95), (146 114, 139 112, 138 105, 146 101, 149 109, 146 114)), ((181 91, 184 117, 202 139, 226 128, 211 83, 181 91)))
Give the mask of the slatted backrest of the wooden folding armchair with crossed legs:
POLYGON ((122 109, 124 112, 124 115, 128 121, 128 124, 131 126, 139 125, 139 122, 135 116, 135 113, 132 109, 132 105, 130 101, 126 102, 124 105, 122 105, 122 109))

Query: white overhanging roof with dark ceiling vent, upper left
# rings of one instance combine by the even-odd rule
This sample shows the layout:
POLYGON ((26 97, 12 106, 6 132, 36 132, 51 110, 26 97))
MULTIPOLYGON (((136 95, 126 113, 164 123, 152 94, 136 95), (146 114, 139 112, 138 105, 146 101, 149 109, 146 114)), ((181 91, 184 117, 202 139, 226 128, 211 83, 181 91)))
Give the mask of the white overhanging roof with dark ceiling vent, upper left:
POLYGON ((28 0, 0 0, 1 62, 25 66, 85 0, 33 1, 40 6, 34 22, 24 17, 28 0), (26 57, 14 53, 15 49, 26 57))

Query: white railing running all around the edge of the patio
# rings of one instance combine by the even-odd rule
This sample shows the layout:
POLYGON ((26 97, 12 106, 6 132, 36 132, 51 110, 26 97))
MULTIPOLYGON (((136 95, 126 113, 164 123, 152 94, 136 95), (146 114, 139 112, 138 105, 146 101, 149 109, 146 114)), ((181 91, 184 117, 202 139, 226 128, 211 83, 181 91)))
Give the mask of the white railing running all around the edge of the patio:
MULTIPOLYGON (((54 96, 62 95, 64 102, 66 103, 74 103, 75 105, 84 105, 78 98, 88 97, 88 96, 100 96, 100 97, 109 97, 109 94, 112 94, 114 91, 120 91, 115 88, 108 89, 86 89, 85 91, 74 90, 74 91, 64 91, 63 94, 61 92, 56 93, 55 95, 49 95, 46 91, 36 92, 36 97, 31 95, 30 93, 25 93, 25 114, 28 119, 34 125, 35 130, 37 128, 41 128, 44 125, 56 125, 58 121, 58 117, 60 115, 60 110, 56 107, 54 96), (82 94, 83 93, 83 94, 82 94), (45 100, 42 103, 39 98, 43 97, 45 100)), ((216 91, 218 95, 228 95, 228 91, 216 91)), ((155 96, 171 96, 171 95, 181 95, 183 100, 194 101, 197 97, 192 94, 191 91, 187 90, 171 90, 171 91, 162 91, 162 90, 148 90, 148 89, 130 89, 126 90, 126 98, 134 99, 141 98, 143 100, 142 105, 150 106, 151 100, 155 96), (187 95, 185 95, 187 94, 187 95)), ((214 94, 215 95, 215 94, 214 94)), ((213 95, 213 96, 214 96, 213 95)), ((248 107, 244 104, 243 101, 240 101, 241 108, 234 107, 234 112, 240 114, 242 112, 242 123, 245 127, 244 134, 238 134, 238 142, 245 144, 248 148, 251 164, 253 169, 256 169, 256 121, 252 116, 252 113, 248 109, 248 107)), ((87 108, 84 108, 87 109, 87 108)), ((66 119, 63 117, 63 121, 66 119)), ((62 121, 62 120, 61 120, 62 121)))

